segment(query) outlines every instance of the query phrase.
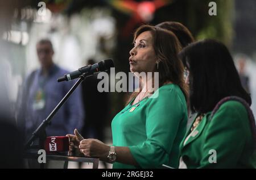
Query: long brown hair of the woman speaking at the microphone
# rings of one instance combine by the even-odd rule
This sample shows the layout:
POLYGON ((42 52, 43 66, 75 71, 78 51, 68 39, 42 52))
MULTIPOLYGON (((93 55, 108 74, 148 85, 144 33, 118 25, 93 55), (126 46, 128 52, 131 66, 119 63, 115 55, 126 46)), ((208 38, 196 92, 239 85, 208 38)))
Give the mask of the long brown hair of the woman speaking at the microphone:
MULTIPOLYGON (((177 54, 181 49, 179 40, 171 31, 155 26, 142 25, 135 31, 134 41, 140 34, 142 34, 142 32, 145 31, 151 32, 153 37, 154 51, 156 57, 160 61, 158 69, 155 66, 154 70, 155 72, 159 72, 159 87, 163 86, 164 83, 171 81, 180 87, 181 91, 183 91, 185 99, 187 99, 188 89, 183 78, 184 66, 177 57, 177 54)), ((132 93, 128 102, 130 102, 131 99, 137 95, 137 92, 132 93)))

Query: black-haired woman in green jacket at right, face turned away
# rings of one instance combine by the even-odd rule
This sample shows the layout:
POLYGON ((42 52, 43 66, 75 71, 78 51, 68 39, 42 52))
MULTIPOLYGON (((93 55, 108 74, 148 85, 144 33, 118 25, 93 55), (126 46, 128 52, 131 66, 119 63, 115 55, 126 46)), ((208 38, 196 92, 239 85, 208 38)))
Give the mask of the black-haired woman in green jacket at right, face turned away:
POLYGON ((255 168, 251 98, 228 49, 203 40, 179 56, 189 73, 190 106, 198 113, 180 144, 180 168, 255 168))

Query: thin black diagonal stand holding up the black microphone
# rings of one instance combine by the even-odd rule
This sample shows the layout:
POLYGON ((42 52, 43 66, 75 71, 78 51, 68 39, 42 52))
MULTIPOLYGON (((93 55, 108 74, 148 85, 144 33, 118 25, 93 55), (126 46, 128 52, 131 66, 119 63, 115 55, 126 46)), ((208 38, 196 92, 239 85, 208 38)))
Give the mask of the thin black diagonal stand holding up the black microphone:
POLYGON ((75 83, 75 85, 73 85, 73 87, 71 87, 71 89, 68 91, 68 93, 64 96, 63 99, 61 99, 61 101, 59 102, 59 104, 57 104, 57 106, 52 110, 52 112, 48 115, 48 117, 46 119, 43 120, 43 122, 39 125, 38 128, 36 128, 36 130, 32 133, 32 136, 30 137, 30 139, 27 141, 26 145, 25 145, 25 150, 29 149, 32 146, 32 143, 35 141, 36 138, 39 137, 39 143, 41 145, 40 148, 43 148, 43 142, 46 140, 46 127, 47 125, 49 125, 51 123, 51 119, 53 118, 53 116, 56 114, 56 112, 60 109, 61 106, 63 106, 63 104, 67 101, 67 99, 70 97, 70 95, 73 93, 73 91, 75 91, 75 89, 80 85, 80 83, 82 81, 84 81, 84 79, 86 78, 86 74, 84 73, 82 74, 79 79, 77 80, 77 82, 75 83))

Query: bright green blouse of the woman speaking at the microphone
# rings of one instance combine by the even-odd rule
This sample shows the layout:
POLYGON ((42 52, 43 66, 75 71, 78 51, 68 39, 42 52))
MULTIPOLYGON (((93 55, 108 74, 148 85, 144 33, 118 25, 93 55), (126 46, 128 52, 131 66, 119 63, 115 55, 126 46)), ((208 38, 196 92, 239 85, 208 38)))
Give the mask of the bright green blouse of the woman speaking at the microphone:
POLYGON ((167 84, 131 105, 112 121, 114 146, 128 146, 139 167, 115 162, 113 168, 179 166, 179 145, 187 124, 187 105, 179 86, 167 84))

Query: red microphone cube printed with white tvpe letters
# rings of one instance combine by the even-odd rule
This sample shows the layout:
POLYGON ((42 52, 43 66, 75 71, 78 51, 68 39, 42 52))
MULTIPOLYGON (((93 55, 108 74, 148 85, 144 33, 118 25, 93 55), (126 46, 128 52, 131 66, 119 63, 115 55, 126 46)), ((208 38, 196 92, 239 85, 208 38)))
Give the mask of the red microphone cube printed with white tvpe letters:
POLYGON ((67 136, 50 136, 44 141, 46 153, 65 153, 69 150, 69 139, 67 136))

